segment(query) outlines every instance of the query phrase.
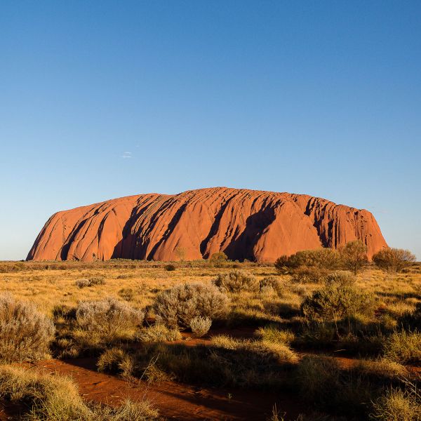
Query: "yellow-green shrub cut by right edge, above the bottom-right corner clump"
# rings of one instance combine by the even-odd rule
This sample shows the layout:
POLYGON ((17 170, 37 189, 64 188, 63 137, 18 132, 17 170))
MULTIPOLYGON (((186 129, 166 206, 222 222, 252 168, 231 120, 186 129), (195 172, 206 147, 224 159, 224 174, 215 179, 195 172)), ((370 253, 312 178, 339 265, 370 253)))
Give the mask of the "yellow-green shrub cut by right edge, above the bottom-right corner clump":
POLYGON ((421 333, 395 331, 386 340, 385 356, 403 364, 421 362, 421 333))

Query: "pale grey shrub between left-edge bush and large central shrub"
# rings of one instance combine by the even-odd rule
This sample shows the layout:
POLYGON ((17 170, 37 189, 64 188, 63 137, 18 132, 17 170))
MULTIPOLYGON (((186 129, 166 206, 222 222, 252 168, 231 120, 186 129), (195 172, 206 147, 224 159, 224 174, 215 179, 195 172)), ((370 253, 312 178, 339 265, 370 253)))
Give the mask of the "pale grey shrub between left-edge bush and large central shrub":
POLYGON ((101 342, 124 337, 128 330, 141 326, 144 317, 141 310, 114 298, 81 301, 76 309, 76 322, 81 330, 97 336, 101 342))

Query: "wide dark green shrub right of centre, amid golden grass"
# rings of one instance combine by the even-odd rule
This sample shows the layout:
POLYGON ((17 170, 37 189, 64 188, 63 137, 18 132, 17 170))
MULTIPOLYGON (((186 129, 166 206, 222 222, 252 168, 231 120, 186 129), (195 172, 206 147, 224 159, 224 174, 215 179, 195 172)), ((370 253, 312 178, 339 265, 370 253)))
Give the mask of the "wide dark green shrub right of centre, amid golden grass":
POLYGON ((340 320, 363 314, 373 316, 375 302, 370 295, 359 293, 352 286, 332 285, 316 290, 305 298, 301 312, 309 319, 340 320))

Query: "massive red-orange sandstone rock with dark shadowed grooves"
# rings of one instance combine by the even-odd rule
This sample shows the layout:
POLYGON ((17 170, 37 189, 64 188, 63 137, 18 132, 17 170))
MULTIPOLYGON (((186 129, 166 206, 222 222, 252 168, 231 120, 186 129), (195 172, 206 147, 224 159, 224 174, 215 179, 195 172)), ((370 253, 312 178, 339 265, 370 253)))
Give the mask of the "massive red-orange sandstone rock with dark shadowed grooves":
POLYGON ((370 212, 305 194, 215 187, 140 194, 55 213, 27 260, 232 260, 273 262, 298 250, 359 239, 368 256, 387 246, 370 212))

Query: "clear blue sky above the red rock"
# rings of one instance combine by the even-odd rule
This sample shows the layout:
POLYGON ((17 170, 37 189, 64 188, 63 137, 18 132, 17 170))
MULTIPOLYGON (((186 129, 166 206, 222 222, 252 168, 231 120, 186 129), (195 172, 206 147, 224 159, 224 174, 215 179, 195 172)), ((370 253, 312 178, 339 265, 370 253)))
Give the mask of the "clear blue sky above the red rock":
POLYGON ((1 1, 0 260, 57 210, 228 186, 421 259, 420 1, 1 1))

